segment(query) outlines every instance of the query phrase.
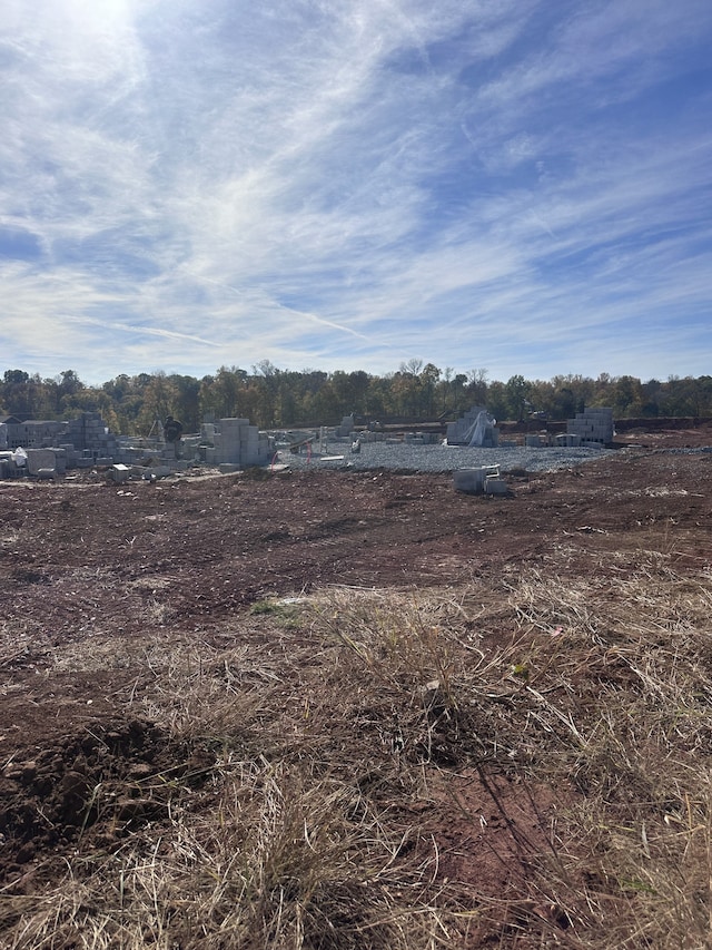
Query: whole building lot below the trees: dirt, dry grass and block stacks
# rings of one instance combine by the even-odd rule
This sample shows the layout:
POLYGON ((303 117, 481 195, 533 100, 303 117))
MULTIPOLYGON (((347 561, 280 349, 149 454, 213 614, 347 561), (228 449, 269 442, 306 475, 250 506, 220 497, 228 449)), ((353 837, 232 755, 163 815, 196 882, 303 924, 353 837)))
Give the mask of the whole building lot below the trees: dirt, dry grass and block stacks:
POLYGON ((705 946, 712 427, 478 415, 13 432, 3 947, 705 946))

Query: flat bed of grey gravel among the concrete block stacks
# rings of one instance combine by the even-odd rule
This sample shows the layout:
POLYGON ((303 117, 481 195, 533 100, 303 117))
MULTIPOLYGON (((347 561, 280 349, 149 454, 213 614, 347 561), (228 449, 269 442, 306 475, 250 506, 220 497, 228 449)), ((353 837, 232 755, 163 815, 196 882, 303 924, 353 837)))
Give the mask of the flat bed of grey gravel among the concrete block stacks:
POLYGON ((278 462, 297 468, 344 468, 355 471, 393 469, 395 471, 452 472, 479 466, 500 466, 502 472, 524 469, 527 472, 556 471, 591 462, 615 452, 614 449, 468 449, 462 445, 408 445, 406 443, 364 442, 360 452, 352 453, 350 443, 334 444, 333 452, 310 459, 279 452, 278 462), (343 458, 339 458, 343 457, 343 458))

